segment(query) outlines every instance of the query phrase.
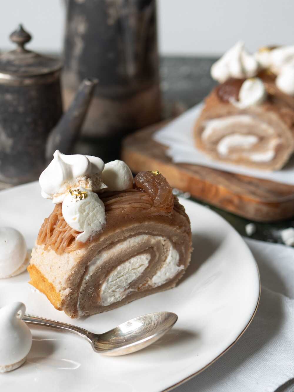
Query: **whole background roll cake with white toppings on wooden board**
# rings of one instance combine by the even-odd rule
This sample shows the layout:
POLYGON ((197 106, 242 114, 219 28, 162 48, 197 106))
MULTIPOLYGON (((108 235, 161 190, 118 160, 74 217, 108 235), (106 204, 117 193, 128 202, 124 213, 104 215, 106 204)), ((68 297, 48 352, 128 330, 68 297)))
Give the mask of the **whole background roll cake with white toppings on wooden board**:
POLYGON ((251 55, 239 42, 213 64, 211 75, 220 84, 195 123, 198 149, 255 169, 277 170, 287 163, 294 151, 294 68, 291 74, 277 65, 287 48, 251 55))

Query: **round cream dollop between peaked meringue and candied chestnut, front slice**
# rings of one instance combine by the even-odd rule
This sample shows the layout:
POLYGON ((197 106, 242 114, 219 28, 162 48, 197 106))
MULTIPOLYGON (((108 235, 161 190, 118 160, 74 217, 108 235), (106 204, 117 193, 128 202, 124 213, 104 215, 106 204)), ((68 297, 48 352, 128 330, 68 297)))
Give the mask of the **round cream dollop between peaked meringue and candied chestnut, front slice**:
POLYGON ((131 169, 123 161, 115 160, 106 163, 101 178, 109 191, 124 191, 133 187, 131 169))

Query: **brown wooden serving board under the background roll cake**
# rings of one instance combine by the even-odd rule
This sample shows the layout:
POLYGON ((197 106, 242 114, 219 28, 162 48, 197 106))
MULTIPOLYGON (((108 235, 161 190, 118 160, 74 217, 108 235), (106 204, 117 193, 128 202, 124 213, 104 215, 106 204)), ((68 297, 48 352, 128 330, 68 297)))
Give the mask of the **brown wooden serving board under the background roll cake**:
POLYGON ((294 186, 188 163, 173 163, 168 147, 152 134, 166 122, 127 136, 122 159, 134 173, 159 170, 173 188, 253 221, 271 222, 294 216, 294 186))

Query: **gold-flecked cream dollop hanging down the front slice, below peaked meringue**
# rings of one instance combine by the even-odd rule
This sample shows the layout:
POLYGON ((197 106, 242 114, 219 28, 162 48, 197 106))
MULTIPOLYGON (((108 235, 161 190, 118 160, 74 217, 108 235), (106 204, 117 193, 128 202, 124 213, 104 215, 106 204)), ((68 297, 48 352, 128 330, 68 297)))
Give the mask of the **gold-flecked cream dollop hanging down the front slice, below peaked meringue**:
POLYGON ((103 201, 96 193, 82 187, 70 189, 61 209, 67 224, 81 232, 77 236, 77 240, 81 242, 101 231, 106 223, 103 201))

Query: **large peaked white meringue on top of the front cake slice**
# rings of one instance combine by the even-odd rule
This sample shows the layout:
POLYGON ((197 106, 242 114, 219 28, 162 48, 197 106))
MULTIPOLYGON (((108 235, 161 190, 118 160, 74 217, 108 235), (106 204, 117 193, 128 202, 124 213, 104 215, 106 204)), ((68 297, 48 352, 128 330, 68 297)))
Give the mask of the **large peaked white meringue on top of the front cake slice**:
POLYGON ((70 188, 103 189, 106 187, 101 181, 103 169, 103 160, 96 156, 65 155, 56 150, 40 175, 41 195, 53 203, 61 203, 70 188))

